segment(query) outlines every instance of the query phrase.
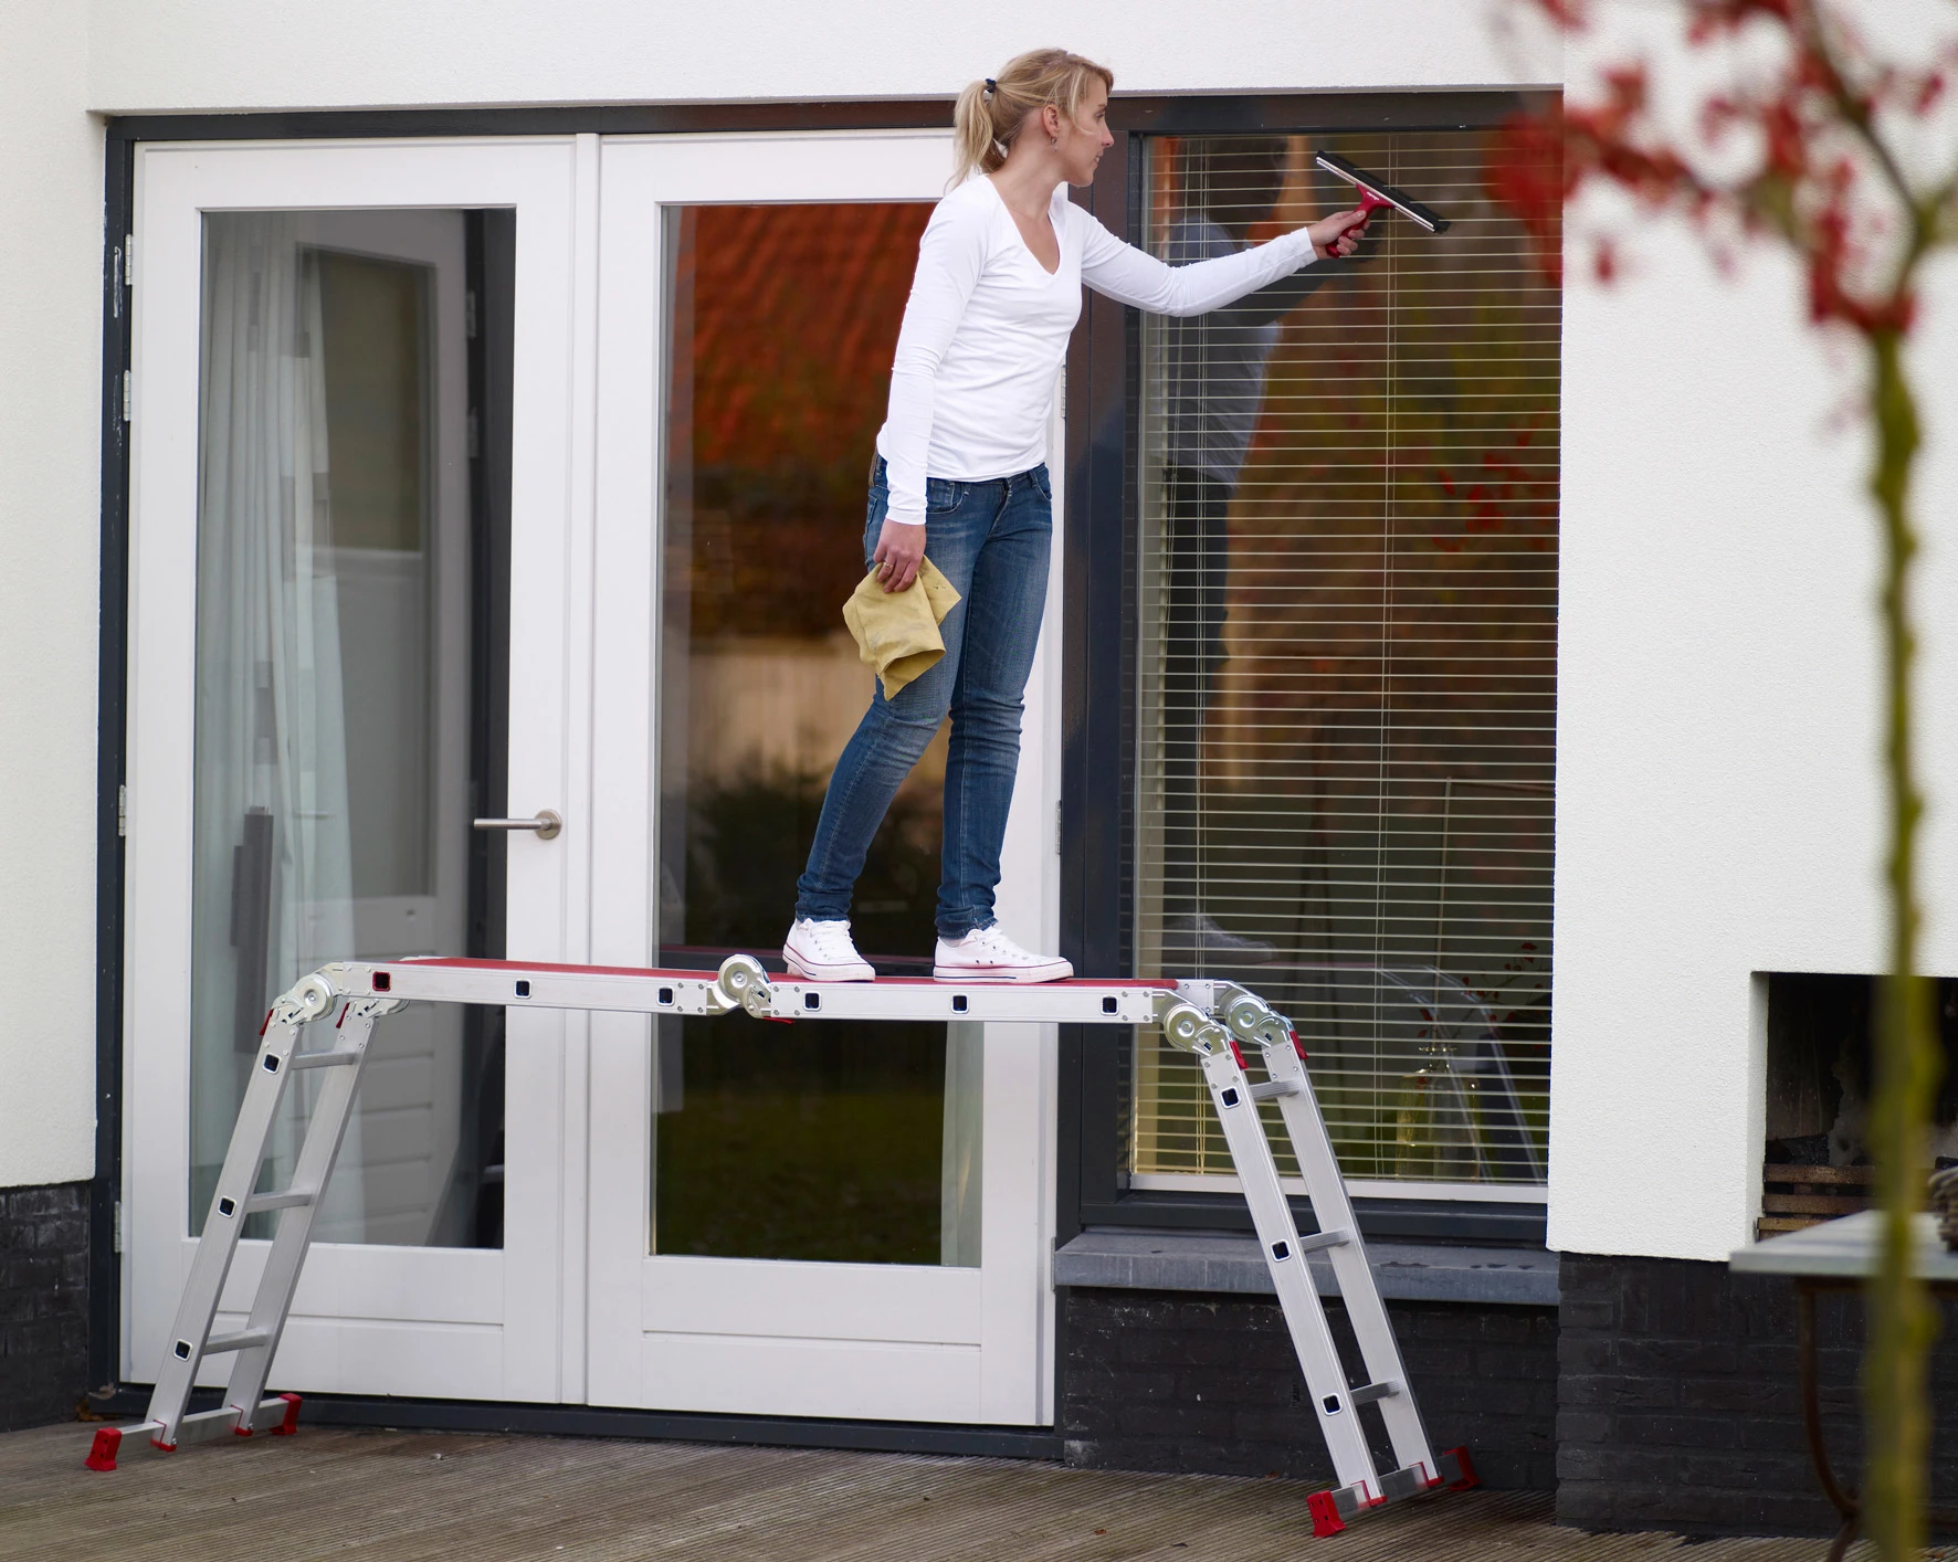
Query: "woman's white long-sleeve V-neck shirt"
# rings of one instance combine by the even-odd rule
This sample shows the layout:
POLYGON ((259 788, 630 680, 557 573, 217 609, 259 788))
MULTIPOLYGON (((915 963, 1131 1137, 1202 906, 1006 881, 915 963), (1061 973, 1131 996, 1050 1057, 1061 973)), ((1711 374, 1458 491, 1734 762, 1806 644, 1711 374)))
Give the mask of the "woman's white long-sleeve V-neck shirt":
POLYGON ((1314 258, 1306 229, 1257 249, 1167 266, 1116 239, 1067 200, 1048 206, 1061 264, 1048 272, 991 178, 938 202, 897 335, 891 407, 877 431, 893 521, 924 521, 924 480, 987 482, 1048 458, 1048 413, 1081 284, 1157 315, 1200 315, 1267 288, 1314 258))

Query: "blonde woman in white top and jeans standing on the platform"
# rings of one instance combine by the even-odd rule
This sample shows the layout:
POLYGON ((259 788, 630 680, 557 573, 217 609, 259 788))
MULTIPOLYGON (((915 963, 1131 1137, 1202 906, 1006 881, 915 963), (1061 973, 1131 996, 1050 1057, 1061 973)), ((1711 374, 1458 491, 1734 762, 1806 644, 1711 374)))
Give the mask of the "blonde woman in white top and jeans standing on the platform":
POLYGON ((918 243, 877 433, 863 552, 885 591, 909 591, 920 560, 959 603, 944 660, 895 699, 871 695, 822 801, 795 926, 781 957, 815 981, 871 981, 850 940, 850 891, 891 799, 950 711, 942 981, 1042 983, 1071 977, 1022 949, 993 918, 999 851, 1020 761, 1020 711, 1048 597, 1053 530, 1044 464, 1053 384, 1081 315, 1081 284, 1165 315, 1200 315, 1320 256, 1351 254, 1361 211, 1341 211, 1269 245, 1165 266, 1067 200, 1114 145, 1114 74, 1061 49, 1036 49, 959 94, 959 166, 918 243))

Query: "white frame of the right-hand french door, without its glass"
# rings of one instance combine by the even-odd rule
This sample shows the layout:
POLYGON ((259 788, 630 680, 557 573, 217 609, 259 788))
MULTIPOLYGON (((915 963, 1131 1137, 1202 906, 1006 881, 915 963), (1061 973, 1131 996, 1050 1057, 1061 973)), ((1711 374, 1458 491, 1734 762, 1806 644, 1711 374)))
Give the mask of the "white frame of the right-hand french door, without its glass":
MULTIPOLYGON (((591 959, 599 965, 652 963, 658 916, 658 799, 646 777, 658 765, 664 211, 717 202, 934 200, 950 168, 952 135, 942 129, 603 143, 591 881, 591 959), (863 164, 844 157, 852 151, 881 155, 889 166, 865 178, 863 164)), ((1057 456, 1065 448, 1059 407, 1049 440, 1057 456)), ((1059 497, 1055 513, 1059 558, 1059 497)), ((1048 591, 999 904, 1002 920, 1044 945, 1057 938, 1059 920, 1059 570, 1049 572, 1048 591)), ((787 906, 783 918, 787 926, 787 906)), ((1049 1425, 1055 1069, 1055 1026, 987 1028, 977 1270, 660 1257, 646 1255, 650 1022, 591 1016, 591 1400, 1049 1425), (630 1172, 621 1176, 621 1167, 630 1172), (791 1286, 795 1306, 787 1304, 791 1286), (881 1308, 858 1300, 873 1296, 881 1308), (791 1313, 807 1319, 803 1333, 781 1323, 791 1313), (701 1329, 701 1319, 719 1327, 701 1329), (785 1390, 783 1378, 797 1374, 805 1392, 785 1390)))

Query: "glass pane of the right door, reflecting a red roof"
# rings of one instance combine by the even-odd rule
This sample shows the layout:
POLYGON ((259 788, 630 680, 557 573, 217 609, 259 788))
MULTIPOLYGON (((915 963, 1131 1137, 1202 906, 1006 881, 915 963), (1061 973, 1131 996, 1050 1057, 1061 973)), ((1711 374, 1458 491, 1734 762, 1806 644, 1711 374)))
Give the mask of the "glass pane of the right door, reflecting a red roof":
MULTIPOLYGON (((781 947, 830 767, 875 693, 842 624, 930 207, 666 217, 660 963, 781 947)), ((858 885, 928 975, 944 732, 858 885)), ((779 963, 777 963, 779 969, 779 963)), ((660 1020, 650 1251, 979 1263, 979 1030, 660 1020)))

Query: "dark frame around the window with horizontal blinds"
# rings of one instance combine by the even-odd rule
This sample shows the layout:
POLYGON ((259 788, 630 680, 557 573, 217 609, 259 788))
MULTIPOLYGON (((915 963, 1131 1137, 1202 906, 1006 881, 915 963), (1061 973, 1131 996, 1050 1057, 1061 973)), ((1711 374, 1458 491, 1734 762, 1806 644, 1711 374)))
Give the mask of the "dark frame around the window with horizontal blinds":
MULTIPOLYGON (((1555 102, 1555 90, 1349 92, 1265 96, 1116 96, 1114 145, 1075 200, 1116 237, 1142 227, 1142 143, 1151 135, 1312 135, 1333 131, 1490 129, 1555 102)), ((1130 959, 1132 896, 1124 834, 1136 644, 1136 419, 1142 315, 1087 294, 1067 354, 1065 528, 1061 556, 1061 951, 1089 975, 1130 959), (1114 889, 1110 889, 1114 887, 1114 889)), ((1087 1227, 1249 1231, 1228 1194, 1134 1190, 1122 1165, 1122 1055, 1130 1032, 1061 1026, 1055 1241, 1087 1227)), ((1553 1043, 1555 1045, 1555 1043, 1553 1043)), ((1553 1063, 1555 1077, 1555 1063, 1553 1063)), ((1316 1229, 1294 1200, 1300 1231, 1316 1229)), ((1355 1200, 1369 1237, 1537 1247, 1547 1204, 1433 1198, 1355 1200)))

